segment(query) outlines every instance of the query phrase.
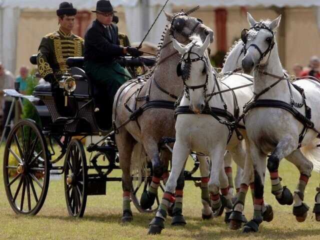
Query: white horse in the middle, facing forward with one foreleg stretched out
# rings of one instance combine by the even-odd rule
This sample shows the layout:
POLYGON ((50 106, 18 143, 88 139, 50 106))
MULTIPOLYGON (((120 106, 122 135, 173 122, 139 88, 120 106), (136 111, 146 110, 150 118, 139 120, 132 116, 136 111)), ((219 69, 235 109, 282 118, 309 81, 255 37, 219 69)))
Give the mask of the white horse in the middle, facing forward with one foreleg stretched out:
MULTIPOLYGON (((228 210, 232 207, 228 195, 228 181, 223 170, 223 154, 225 149, 234 154, 242 148, 238 138, 240 134, 245 136, 244 129, 238 128, 233 132, 228 122, 233 121, 242 111, 245 102, 251 99, 252 86, 248 86, 251 81, 237 74, 226 77, 222 82, 217 80, 206 50, 210 43, 209 38, 206 37, 203 44, 196 35, 191 39, 191 43, 187 45, 172 39, 174 48, 182 55, 177 72, 182 76, 185 94, 175 109, 176 140, 172 152, 172 166, 161 204, 149 224, 150 234, 160 233, 164 227, 169 200, 191 150, 202 152, 210 158, 208 189, 212 210, 217 212, 221 207, 219 190, 228 210), (230 89, 243 85, 247 86, 233 91, 230 89)), ((243 126, 243 122, 240 124, 243 126)))

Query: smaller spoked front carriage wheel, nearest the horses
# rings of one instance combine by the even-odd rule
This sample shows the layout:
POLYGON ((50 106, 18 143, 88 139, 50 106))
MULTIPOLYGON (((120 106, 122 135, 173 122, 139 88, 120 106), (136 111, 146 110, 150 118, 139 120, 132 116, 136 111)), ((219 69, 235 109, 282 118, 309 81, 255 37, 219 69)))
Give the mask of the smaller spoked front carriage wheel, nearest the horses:
POLYGON ((87 166, 83 145, 72 139, 64 161, 64 191, 69 215, 82 217, 87 197, 87 166))

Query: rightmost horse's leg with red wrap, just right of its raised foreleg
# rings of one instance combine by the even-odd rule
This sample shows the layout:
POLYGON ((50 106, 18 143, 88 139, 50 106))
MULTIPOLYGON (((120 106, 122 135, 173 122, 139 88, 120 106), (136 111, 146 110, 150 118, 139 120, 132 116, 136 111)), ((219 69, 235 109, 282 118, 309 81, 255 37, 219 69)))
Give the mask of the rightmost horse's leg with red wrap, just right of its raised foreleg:
POLYGON ((286 159, 292 162, 300 172, 299 182, 293 193, 293 215, 295 215, 298 222, 301 222, 305 220, 307 210, 309 209, 303 202, 303 197, 304 189, 311 175, 313 165, 312 162, 301 153, 300 149, 293 151, 290 155, 286 156, 286 159))

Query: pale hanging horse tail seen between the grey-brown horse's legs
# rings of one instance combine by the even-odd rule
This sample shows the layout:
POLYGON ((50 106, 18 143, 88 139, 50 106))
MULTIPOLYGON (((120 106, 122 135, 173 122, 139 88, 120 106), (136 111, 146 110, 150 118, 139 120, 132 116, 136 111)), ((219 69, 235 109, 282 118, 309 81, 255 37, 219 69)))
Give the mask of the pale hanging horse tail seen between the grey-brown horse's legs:
POLYGON ((131 153, 131 165, 130 172, 132 176, 133 188, 142 183, 142 180, 146 180, 147 176, 147 157, 144 147, 141 143, 137 142, 133 146, 131 153))

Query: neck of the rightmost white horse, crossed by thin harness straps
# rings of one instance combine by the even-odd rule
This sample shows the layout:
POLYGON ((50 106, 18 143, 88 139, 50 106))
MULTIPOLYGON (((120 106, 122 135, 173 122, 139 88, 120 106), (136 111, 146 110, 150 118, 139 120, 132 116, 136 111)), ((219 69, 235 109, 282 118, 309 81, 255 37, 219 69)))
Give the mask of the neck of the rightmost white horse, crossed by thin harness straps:
MULTIPOLYGON (((277 51, 276 43, 274 44, 273 48, 271 49, 270 54, 267 54, 265 57, 268 57, 267 63, 265 65, 260 64, 259 67, 254 69, 253 73, 253 91, 254 93, 260 93, 265 88, 269 87, 273 83, 279 80, 280 77, 284 77, 283 68, 280 62, 280 58, 277 51), (273 74, 278 77, 264 75, 259 70, 265 71, 267 73, 273 74)), ((288 85, 286 80, 280 80, 273 86, 271 89, 266 91, 263 94, 262 98, 270 98, 270 99, 282 99, 283 92, 288 92, 288 85)))

